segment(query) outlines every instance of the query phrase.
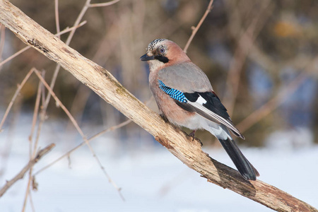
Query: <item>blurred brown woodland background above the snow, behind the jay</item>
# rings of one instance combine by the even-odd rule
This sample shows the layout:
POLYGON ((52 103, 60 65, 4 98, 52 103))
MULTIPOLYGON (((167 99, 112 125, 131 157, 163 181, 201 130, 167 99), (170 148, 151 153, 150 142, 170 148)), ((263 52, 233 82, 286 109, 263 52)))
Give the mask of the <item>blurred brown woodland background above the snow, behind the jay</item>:
MULTIPOLYGON (((59 1, 61 30, 73 26, 85 2, 59 1)), ((208 2, 122 0, 111 6, 88 8, 82 18, 87 23, 76 30, 70 46, 110 71, 137 98, 158 110, 153 100, 149 102, 148 65, 139 57, 156 38, 173 40, 184 48, 208 2)), ((57 33, 54 1, 11 3, 51 33, 57 33)), ((241 146, 296 152, 318 143, 317 11, 318 1, 314 0, 213 2, 213 9, 187 54, 207 74, 232 121, 245 135, 245 141, 237 139, 241 146)), ((61 35, 61 40, 66 42, 68 36, 69 33, 61 35)), ((0 39, 1 61, 25 47, 3 26, 0 39)), ((35 49, 0 66, 0 118, 17 85, 32 67, 45 70, 45 79, 50 82, 56 66, 35 49)), ((0 132, 0 175, 8 170, 9 155, 18 148, 18 141, 28 143, 38 84, 37 76, 30 76, 4 122, 0 132)), ((88 138, 127 120, 67 71, 59 71, 54 92, 88 138)), ((39 140, 42 146, 54 142, 65 153, 81 143, 81 136, 54 100, 49 102, 45 117, 39 140)), ((211 134, 200 131, 196 136, 204 147, 219 146, 211 134)), ((98 141, 95 145, 100 150, 117 156, 138 154, 137 149, 162 148, 134 123, 111 131, 98 141), (105 143, 105 138, 114 142, 105 143)), ((28 145, 23 145, 28 153, 28 145)), ((23 152, 23 148, 18 149, 23 152)), ((317 157, 314 161, 318 162, 317 157)))

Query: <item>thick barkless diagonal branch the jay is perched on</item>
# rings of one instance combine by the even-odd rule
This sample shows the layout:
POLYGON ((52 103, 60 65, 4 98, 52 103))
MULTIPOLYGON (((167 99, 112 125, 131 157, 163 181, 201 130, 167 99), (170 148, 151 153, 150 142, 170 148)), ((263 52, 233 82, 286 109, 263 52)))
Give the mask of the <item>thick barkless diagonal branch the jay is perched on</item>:
POLYGON ((152 134, 184 164, 206 177, 208 182, 230 189, 276 211, 317 211, 270 184, 259 180, 248 182, 236 170, 210 158, 201 150, 199 141, 192 141, 192 137, 165 123, 107 70, 65 45, 8 1, 0 1, 0 13, 1 23, 20 40, 60 64, 102 99, 152 134))

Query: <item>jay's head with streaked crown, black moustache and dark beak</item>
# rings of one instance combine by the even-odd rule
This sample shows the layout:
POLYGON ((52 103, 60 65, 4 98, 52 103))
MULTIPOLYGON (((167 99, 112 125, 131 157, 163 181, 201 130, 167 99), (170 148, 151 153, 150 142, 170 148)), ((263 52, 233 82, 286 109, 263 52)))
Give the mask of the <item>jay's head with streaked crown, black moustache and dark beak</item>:
POLYGON ((166 39, 153 40, 148 45, 146 54, 143 54, 140 60, 148 61, 151 71, 190 61, 187 54, 175 42, 166 39))

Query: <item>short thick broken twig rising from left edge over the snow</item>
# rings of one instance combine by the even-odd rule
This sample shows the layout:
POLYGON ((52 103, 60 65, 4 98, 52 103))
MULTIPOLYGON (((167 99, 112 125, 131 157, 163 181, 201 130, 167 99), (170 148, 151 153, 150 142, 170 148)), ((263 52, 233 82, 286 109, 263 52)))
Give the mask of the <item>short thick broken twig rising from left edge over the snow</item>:
POLYGON ((13 179, 9 180, 8 182, 6 182, 6 184, 4 185, 4 187, 2 187, 0 189, 0 197, 4 195, 4 193, 6 193, 6 191, 15 183, 17 182, 19 179, 22 179, 25 175, 26 172, 28 172, 28 170, 30 170, 30 167, 33 167, 33 165, 35 165, 35 163, 37 163, 37 161, 39 161, 43 155, 45 155, 46 153, 48 153, 49 151, 52 150, 52 148, 54 148, 55 144, 51 143, 49 144, 49 146, 43 148, 42 150, 40 150, 37 155, 35 156, 35 158, 33 158, 33 160, 30 160, 29 163, 27 165, 25 165, 25 167, 23 167, 23 169, 18 173, 18 175, 16 175, 16 177, 13 177, 13 179))

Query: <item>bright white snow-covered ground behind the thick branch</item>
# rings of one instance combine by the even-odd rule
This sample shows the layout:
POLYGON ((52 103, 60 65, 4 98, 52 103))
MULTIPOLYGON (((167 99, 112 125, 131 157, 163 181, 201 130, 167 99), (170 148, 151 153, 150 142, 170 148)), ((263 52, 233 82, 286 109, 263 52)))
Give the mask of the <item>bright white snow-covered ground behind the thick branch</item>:
MULTIPOLYGON (((20 129, 0 176, 0 186, 28 161, 28 131, 20 129)), ((45 134, 42 134, 44 136, 45 134)), ((54 140, 54 135, 51 135, 54 140)), ((35 165, 35 172, 63 155, 71 145, 58 136, 57 147, 35 165), (64 143, 64 144, 63 144, 64 143)), ((0 145, 6 132, 0 134, 0 145)), ((150 139, 151 140, 151 139, 150 139)), ((146 141, 147 142, 147 141, 146 141)), ((122 201, 86 146, 36 176, 35 211, 271 211, 239 194, 206 182, 161 146, 117 153, 117 141, 102 136, 92 145, 112 180, 122 188, 122 201)), ((151 141, 149 141, 151 143, 151 141)), ((44 147, 46 144, 41 144, 44 147)), ((3 146, 3 145, 2 145, 3 146)), ((1 147, 2 147, 1 146, 1 147)), ((73 145, 75 146, 75 144, 73 145)), ((233 167, 223 149, 205 148, 211 157, 233 167)), ((318 146, 305 148, 242 148, 257 167, 260 180, 318 208, 318 146)), ((4 163, 4 161, 1 161, 4 163)), ((3 164, 0 164, 3 165, 3 164)), ((0 198, 0 211, 21 211, 27 176, 0 198)), ((28 202, 27 211, 32 211, 28 202)))

